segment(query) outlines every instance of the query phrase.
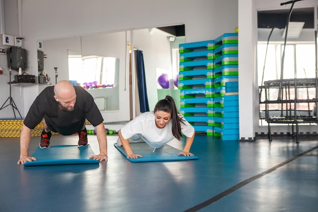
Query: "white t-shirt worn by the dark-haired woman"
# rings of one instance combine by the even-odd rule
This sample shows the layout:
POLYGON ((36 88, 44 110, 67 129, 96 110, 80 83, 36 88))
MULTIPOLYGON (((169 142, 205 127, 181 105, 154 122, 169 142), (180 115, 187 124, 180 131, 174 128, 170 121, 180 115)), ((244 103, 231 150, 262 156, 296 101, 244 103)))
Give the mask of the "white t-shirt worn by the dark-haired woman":
MULTIPOLYGON (((186 137, 192 137, 195 132, 194 127, 181 114, 178 115, 182 117, 184 123, 180 122, 181 132, 186 137)), ((125 124, 120 131, 124 139, 135 137, 134 140, 136 140, 136 138, 140 137, 154 148, 159 148, 175 138, 172 134, 171 119, 163 129, 157 128, 153 111, 141 113, 125 124)))

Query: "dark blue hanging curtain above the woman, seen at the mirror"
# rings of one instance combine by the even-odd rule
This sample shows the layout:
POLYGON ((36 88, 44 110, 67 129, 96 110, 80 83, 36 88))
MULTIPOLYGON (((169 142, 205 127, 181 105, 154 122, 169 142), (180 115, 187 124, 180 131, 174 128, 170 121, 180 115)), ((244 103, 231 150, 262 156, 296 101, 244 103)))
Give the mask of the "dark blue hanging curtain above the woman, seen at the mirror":
POLYGON ((136 52, 136 75, 137 85, 140 103, 140 112, 149 111, 146 77, 145 77, 145 66, 144 66, 144 55, 141 50, 135 50, 136 52))

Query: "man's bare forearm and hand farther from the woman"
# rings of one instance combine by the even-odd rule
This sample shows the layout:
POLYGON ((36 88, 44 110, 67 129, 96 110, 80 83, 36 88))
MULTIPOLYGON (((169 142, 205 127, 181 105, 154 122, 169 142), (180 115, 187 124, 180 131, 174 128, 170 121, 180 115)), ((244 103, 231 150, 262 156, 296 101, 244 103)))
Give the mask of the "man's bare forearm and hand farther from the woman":
POLYGON ((21 129, 21 134, 20 134, 20 159, 18 160, 18 164, 23 164, 25 162, 31 162, 31 161, 37 160, 34 157, 28 156, 30 140, 31 140, 31 129, 29 129, 23 124, 21 129))

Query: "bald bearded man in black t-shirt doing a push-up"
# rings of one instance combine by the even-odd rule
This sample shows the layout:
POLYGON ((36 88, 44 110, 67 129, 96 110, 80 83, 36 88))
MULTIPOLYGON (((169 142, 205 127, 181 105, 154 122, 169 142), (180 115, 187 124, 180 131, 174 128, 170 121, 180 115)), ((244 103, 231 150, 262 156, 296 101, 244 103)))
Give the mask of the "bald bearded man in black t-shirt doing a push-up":
POLYGON ((20 159, 18 164, 37 160, 28 156, 31 130, 42 120, 44 129, 39 146, 50 147, 51 131, 61 135, 78 133, 78 146, 87 145, 86 119, 96 128, 100 154, 91 156, 95 160, 107 160, 107 138, 104 119, 92 96, 82 87, 68 81, 59 81, 46 87, 31 105, 21 129, 20 159), (43 119, 44 118, 44 119, 43 119))

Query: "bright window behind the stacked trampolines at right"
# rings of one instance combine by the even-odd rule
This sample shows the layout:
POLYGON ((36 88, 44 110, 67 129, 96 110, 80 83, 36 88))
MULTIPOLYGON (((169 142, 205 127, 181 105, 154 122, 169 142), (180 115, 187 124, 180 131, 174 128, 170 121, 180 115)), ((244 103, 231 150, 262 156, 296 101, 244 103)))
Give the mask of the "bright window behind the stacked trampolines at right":
MULTIPOLYGON (((280 79, 281 58, 283 44, 271 43, 258 44, 258 84, 263 85, 264 81, 280 79), (266 54, 267 48, 267 54, 266 54), (266 56, 266 62, 265 62, 266 56), (265 65, 264 65, 265 62, 265 65)), ((283 79, 291 78, 315 78, 315 45, 314 44, 288 44, 285 46, 283 79)), ((264 90, 260 91, 261 102, 265 100, 264 90)), ((277 94, 271 94, 277 96, 277 94)), ((295 95, 294 95, 295 96, 295 95)), ((295 98, 291 96, 290 99, 295 98)), ((298 99, 315 98, 315 89, 300 89, 298 99)), ((285 109, 285 105, 272 105, 270 110, 285 109)), ((312 110, 314 104, 301 103, 298 110, 312 110)), ((265 105, 260 104, 260 116, 264 117, 265 105)), ((267 125, 265 120, 261 120, 260 125, 267 125)))

